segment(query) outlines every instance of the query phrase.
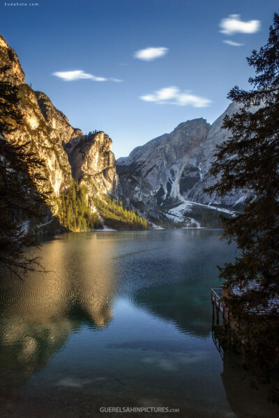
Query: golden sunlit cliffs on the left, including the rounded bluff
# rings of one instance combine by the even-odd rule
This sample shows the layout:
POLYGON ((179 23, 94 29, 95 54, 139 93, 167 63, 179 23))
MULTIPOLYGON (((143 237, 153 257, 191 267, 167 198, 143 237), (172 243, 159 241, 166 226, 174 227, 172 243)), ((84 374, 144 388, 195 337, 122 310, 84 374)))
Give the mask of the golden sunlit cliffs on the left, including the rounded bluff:
MULTIPOLYGON (((15 51, 0 37, 0 80, 17 86, 18 109, 22 124, 9 134, 18 143, 29 142, 30 149, 45 160, 44 188, 52 191, 52 214, 59 211, 59 196, 73 178, 86 185, 88 194, 116 196, 118 178, 111 151, 112 140, 98 132, 90 137, 72 127, 68 118, 52 104, 50 98, 25 84, 25 76, 15 51)), ((51 219, 46 219, 48 222, 51 219)))

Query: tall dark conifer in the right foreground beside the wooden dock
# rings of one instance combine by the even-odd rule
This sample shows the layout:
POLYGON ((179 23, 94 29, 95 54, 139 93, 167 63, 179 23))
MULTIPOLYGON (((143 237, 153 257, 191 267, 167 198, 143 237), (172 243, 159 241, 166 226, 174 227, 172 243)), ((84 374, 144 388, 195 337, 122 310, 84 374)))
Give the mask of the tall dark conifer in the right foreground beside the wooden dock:
POLYGON ((236 86, 229 92, 228 98, 241 104, 241 109, 224 119, 223 127, 232 135, 218 146, 211 174, 220 175, 220 180, 206 191, 218 196, 250 191, 243 212, 222 219, 223 238, 236 240, 241 256, 220 269, 220 278, 244 291, 232 301, 232 309, 247 325, 243 327, 249 341, 246 360, 257 357, 266 369, 279 369, 279 312, 272 304, 279 300, 278 14, 268 42, 252 52, 248 64, 256 73, 249 79, 252 90, 236 86), (255 282, 257 288, 249 291, 247 286, 255 282))

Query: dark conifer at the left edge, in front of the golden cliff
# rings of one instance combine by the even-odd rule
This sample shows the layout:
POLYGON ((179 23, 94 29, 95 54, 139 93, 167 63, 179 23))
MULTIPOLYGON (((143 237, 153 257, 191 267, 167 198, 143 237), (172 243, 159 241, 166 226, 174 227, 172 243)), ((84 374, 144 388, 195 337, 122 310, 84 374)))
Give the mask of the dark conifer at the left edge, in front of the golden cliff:
MULTIPOLYGON (((1 68, 0 74, 4 70, 1 68)), ((38 258, 26 253, 28 247, 36 245, 36 238, 26 227, 30 219, 47 213, 47 195, 41 189, 43 161, 29 150, 30 144, 17 144, 6 137, 21 122, 17 88, 0 82, 0 272, 12 272, 17 277, 42 270, 38 258)))

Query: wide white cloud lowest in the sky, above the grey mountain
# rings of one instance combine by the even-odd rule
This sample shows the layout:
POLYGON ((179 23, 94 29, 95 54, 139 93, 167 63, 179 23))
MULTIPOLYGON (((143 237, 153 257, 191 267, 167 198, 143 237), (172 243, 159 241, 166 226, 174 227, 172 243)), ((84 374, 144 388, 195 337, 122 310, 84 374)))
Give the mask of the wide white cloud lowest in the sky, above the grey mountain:
POLYGON ((158 104, 176 104, 177 106, 206 107, 211 100, 200 98, 191 94, 189 91, 180 91, 177 87, 165 87, 152 94, 140 96, 145 102, 154 102, 158 104))

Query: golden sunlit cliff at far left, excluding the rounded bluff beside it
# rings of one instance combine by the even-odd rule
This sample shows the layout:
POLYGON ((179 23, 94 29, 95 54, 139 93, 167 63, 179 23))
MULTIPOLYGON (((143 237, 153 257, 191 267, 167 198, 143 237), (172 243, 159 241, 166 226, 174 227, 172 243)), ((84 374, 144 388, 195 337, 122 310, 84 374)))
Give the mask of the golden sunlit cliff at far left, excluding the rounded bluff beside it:
MULTIPOLYGON (((52 190, 54 196, 59 196, 68 187, 71 179, 70 164, 63 143, 82 132, 77 132, 70 126, 66 116, 53 106, 47 95, 35 92, 24 84, 24 72, 17 55, 3 38, 0 40, 1 65, 9 68, 1 79, 19 89, 18 108, 22 114, 22 124, 9 134, 8 139, 15 139, 20 144, 29 142, 30 149, 36 156, 45 160, 45 190, 52 190)), ((55 206, 53 211, 56 212, 55 206)))

